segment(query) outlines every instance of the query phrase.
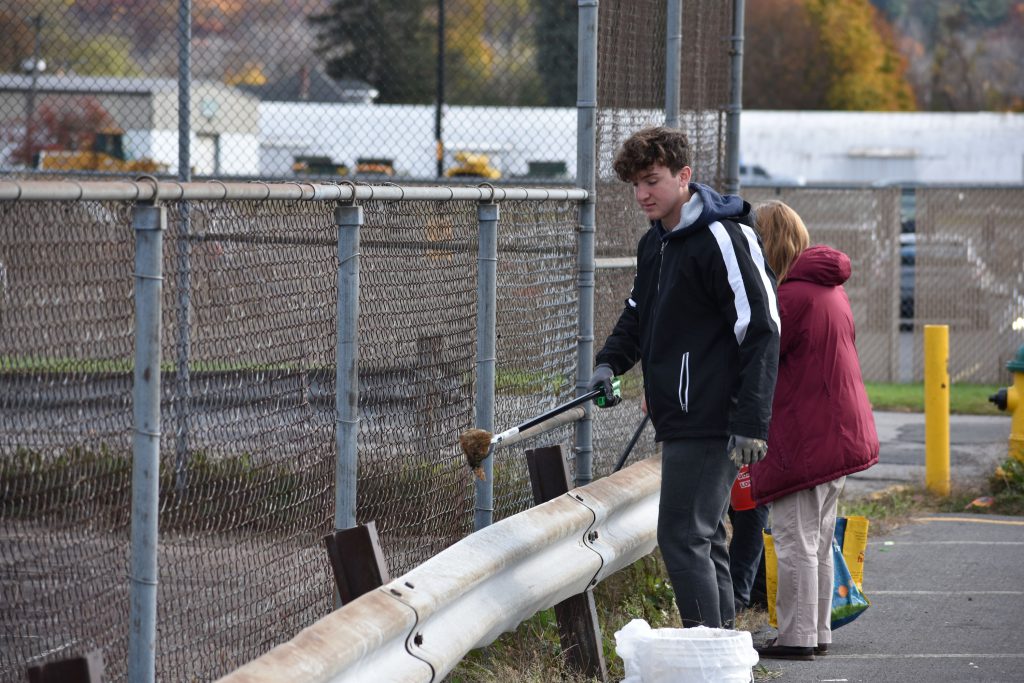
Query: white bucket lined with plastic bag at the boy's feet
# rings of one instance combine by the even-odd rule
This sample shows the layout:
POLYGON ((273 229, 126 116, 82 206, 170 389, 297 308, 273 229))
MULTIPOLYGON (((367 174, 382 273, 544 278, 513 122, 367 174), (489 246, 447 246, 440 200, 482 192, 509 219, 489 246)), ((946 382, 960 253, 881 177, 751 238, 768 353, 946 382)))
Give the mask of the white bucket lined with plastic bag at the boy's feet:
POLYGON ((623 683, 749 683, 758 663, 746 631, 651 629, 643 620, 615 633, 615 651, 626 669, 623 683))

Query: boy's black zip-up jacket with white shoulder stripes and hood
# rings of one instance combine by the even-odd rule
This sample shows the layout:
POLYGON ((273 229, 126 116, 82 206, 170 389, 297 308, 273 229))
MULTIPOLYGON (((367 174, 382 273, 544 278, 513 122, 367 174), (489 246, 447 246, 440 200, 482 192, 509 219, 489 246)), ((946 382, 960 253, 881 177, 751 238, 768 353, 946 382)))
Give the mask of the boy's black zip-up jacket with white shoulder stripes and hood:
POLYGON ((596 362, 616 375, 642 362, 658 441, 764 439, 778 370, 775 274, 751 205, 689 187, 683 225, 652 221, 640 239, 633 291, 596 362))

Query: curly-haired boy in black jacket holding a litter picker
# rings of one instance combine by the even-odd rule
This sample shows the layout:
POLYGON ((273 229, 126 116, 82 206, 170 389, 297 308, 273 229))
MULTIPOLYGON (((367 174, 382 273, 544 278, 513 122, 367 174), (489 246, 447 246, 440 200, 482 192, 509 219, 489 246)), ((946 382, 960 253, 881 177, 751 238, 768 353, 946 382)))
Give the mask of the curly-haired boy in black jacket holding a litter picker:
POLYGON ((641 362, 662 443, 657 542, 683 626, 731 628, 726 510, 737 468, 767 449, 778 305, 751 205, 691 182, 689 164, 686 134, 664 127, 634 133, 615 156, 650 229, 590 386, 612 405, 612 377, 641 362))

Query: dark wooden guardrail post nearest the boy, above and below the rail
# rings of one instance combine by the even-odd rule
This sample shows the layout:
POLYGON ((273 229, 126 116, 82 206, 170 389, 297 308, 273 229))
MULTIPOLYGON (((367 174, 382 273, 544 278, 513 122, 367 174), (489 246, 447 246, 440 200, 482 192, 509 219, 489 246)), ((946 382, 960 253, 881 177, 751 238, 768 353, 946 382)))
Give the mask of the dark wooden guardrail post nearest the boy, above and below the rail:
MULTIPOLYGON (((569 475, 561 446, 526 451, 526 464, 535 503, 540 505, 568 493, 569 475)), ((588 589, 556 604, 555 616, 566 664, 584 676, 607 681, 608 670, 604 663, 601 627, 597 622, 593 591, 588 589)))

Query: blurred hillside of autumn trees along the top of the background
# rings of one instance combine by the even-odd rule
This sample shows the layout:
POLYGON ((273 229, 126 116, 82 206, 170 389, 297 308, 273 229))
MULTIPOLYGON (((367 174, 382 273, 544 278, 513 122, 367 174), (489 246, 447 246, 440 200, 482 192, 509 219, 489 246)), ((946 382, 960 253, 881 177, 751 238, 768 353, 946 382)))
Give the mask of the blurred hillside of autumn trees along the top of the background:
MULTIPOLYGON (((575 0, 444 5, 445 101, 575 101, 575 0)), ((369 83, 381 102, 431 102, 438 6, 193 0, 193 76, 260 85, 322 68, 369 83)), ((38 42, 49 74, 175 78, 177 11, 157 0, 6 0, 0 70, 23 72, 38 42)), ((1024 0, 746 0, 745 28, 748 109, 1024 111, 1024 0)))

